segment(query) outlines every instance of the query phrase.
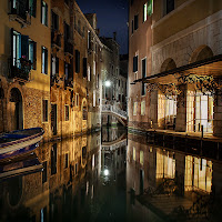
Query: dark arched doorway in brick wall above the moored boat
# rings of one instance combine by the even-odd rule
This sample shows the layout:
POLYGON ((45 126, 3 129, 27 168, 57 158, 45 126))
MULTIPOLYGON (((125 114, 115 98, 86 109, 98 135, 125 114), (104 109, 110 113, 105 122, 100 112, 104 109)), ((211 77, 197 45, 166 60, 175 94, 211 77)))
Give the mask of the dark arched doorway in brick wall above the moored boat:
POLYGON ((23 105, 21 92, 18 88, 12 88, 9 98, 10 114, 11 114, 11 130, 23 129, 23 105))

